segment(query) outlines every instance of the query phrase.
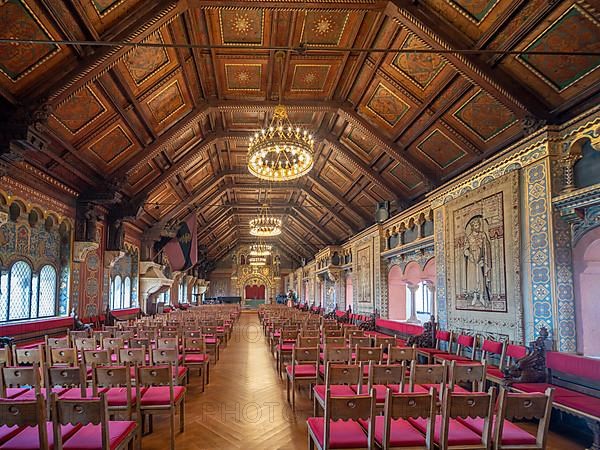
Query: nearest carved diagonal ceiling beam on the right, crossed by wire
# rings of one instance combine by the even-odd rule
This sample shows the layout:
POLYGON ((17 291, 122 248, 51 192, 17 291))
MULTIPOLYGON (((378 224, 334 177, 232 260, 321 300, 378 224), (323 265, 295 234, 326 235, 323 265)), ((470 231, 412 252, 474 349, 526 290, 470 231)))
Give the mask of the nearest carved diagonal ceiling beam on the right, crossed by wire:
MULTIPOLYGON (((421 2, 412 0, 391 0, 386 14, 402 27, 419 36, 434 50, 470 48, 471 44, 459 32, 452 32, 452 26, 442 22, 421 2)), ((547 107, 533 94, 522 89, 498 68, 492 70, 481 59, 472 55, 446 53, 444 57, 464 76, 492 94, 499 102, 517 113, 520 118, 536 116, 549 119, 547 107)))

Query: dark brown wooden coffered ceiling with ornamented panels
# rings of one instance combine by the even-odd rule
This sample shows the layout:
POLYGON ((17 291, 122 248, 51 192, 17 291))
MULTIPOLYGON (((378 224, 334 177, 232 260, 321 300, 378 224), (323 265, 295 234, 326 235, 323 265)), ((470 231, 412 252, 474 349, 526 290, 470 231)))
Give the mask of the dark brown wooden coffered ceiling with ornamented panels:
POLYGON ((85 198, 118 190, 143 205, 136 220, 149 230, 195 213, 214 259, 250 242, 268 195, 285 223, 280 247, 299 260, 371 224, 376 202, 402 209, 597 102, 598 6, 7 0, 0 38, 155 46, 0 43, 2 116, 43 105, 51 114, 31 134, 44 145, 26 144, 17 164, 85 198), (282 79, 277 47, 293 49, 282 79), (292 121, 317 137, 316 164, 269 186, 245 169, 247 138, 268 123, 280 84, 292 121))

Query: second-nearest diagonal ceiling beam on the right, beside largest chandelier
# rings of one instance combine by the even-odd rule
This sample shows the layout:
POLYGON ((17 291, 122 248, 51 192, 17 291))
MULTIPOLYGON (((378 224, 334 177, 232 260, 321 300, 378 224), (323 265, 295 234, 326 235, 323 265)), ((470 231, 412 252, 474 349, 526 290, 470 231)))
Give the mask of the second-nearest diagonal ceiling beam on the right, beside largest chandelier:
POLYGON ((403 152, 405 150, 404 148, 383 136, 383 134, 381 134, 377 128, 367 122, 363 117, 359 116, 351 106, 345 104, 342 108, 340 108, 338 114, 348 121, 353 127, 358 128, 373 138, 381 147, 381 149, 397 163, 408 166, 421 178, 421 180, 423 180, 426 185, 435 185, 435 176, 431 172, 423 169, 423 165, 421 163, 417 162, 408 153, 403 152))

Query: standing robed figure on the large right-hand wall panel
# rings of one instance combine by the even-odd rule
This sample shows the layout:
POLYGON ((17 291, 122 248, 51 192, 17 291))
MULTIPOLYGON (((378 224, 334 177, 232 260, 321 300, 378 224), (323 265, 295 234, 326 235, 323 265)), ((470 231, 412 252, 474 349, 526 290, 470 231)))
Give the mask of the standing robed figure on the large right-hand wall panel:
POLYGON ((492 246, 481 215, 473 216, 467 223, 464 254, 466 296, 472 297, 471 306, 489 306, 492 246))

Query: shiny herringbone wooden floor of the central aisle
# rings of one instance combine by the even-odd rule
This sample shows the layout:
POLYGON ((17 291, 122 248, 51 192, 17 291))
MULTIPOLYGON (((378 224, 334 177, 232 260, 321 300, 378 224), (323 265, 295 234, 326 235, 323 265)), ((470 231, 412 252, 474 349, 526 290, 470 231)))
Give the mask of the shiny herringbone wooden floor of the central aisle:
MULTIPOLYGON (((306 418, 312 402, 301 394, 292 414, 285 381, 278 379, 275 362, 265 345, 255 313, 242 314, 221 359, 211 368, 210 384, 200 392, 192 374, 186 398, 185 432, 177 449, 306 449, 306 418)), ((169 429, 155 420, 154 432, 142 440, 144 450, 167 448, 169 429)), ((579 450, 580 444, 551 433, 551 450, 579 450)))

